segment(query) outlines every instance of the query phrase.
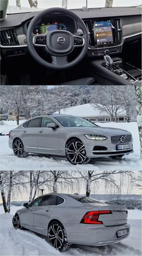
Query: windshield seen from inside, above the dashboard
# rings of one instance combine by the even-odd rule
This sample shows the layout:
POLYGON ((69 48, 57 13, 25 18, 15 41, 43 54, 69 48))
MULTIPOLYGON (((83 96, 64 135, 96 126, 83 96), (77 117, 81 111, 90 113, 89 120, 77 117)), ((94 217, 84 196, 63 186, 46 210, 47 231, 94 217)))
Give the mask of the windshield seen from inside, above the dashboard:
POLYGON ((78 9, 82 7, 132 7, 141 5, 141 0, 9 0, 7 13, 26 13, 51 7, 78 9))

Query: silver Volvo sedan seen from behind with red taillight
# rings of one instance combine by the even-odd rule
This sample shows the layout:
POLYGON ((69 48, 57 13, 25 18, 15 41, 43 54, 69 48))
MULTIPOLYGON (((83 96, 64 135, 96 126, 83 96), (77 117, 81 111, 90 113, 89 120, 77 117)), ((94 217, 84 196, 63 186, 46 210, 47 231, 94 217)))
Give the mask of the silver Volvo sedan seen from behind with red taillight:
POLYGON ((50 193, 23 204, 13 226, 47 236, 60 251, 71 244, 103 246, 129 236, 126 208, 79 195, 50 193))

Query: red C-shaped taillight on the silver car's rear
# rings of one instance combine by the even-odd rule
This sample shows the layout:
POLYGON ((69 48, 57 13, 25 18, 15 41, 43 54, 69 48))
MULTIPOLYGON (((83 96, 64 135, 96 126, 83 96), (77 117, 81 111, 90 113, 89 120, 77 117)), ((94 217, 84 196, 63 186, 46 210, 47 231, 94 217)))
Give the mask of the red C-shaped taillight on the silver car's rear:
POLYGON ((112 214, 111 211, 88 211, 81 220, 84 224, 102 224, 103 222, 98 220, 100 214, 112 214))

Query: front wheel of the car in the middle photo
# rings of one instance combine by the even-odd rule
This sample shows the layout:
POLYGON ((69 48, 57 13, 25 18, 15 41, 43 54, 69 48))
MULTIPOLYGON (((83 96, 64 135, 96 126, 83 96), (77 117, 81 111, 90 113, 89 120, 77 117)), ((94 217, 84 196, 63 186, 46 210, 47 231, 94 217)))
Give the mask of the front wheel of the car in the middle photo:
POLYGON ((71 164, 87 164, 90 158, 87 157, 85 146, 79 139, 72 139, 66 145, 66 158, 71 164))

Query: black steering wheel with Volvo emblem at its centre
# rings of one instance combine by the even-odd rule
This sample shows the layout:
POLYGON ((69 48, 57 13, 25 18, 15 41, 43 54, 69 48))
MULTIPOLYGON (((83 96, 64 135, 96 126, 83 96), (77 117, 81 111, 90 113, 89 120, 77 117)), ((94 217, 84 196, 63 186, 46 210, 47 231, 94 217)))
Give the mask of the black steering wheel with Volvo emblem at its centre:
POLYGON ((49 8, 37 14, 29 23, 26 33, 26 42, 28 50, 32 57, 46 68, 51 69, 66 69, 79 63, 85 57, 88 49, 88 31, 87 28, 75 13, 65 8, 49 8), (36 35, 33 33, 34 27, 42 21, 44 16, 63 14, 75 20, 77 26, 82 30, 83 36, 76 36, 69 31, 64 30, 51 30, 46 34, 36 35), (43 60, 37 54, 36 47, 45 48, 45 52, 51 55, 52 63, 43 60), (67 61, 67 55, 73 51, 74 48, 81 47, 81 52, 75 60, 67 61))

